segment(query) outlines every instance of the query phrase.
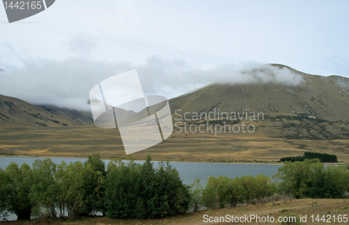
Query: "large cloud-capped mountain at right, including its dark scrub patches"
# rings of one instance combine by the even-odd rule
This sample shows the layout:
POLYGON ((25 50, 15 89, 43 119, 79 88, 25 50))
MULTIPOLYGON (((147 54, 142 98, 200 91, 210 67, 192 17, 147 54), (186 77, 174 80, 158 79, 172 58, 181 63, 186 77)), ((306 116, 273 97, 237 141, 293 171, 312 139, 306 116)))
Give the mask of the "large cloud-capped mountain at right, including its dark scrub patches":
MULTIPOLYGON (((205 120, 219 125, 241 125, 242 121, 250 121, 256 130, 250 135, 253 137, 262 135, 285 140, 349 139, 348 78, 309 75, 279 64, 270 66, 276 68, 276 71, 288 70, 288 75, 298 76, 301 82, 210 84, 172 98, 172 118, 175 122, 181 121, 177 124, 182 129, 185 123, 196 127, 202 124, 206 128, 208 125, 202 123, 205 120), (218 113, 223 116, 218 117, 218 113), (258 113, 260 116, 253 116, 258 113), (184 114, 187 120, 184 120, 184 114), (196 115, 201 115, 202 120, 195 118, 196 115), (249 116, 252 116, 252 121, 249 116)), ((246 74, 255 75, 262 70, 257 68, 246 74)), ((262 72, 264 77, 274 76, 270 71, 262 72)))

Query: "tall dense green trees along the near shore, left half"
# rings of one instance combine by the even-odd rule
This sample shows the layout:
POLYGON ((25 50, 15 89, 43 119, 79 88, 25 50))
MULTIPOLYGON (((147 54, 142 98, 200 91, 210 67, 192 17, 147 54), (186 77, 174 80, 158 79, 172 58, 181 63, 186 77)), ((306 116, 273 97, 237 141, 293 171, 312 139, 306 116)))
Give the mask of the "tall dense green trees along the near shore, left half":
POLYGON ((11 162, 0 169, 0 212, 31 217, 80 217, 96 212, 116 218, 152 219, 186 212, 189 187, 170 164, 154 168, 151 157, 144 164, 111 160, 99 155, 87 162, 54 164, 35 160, 32 168, 11 162))

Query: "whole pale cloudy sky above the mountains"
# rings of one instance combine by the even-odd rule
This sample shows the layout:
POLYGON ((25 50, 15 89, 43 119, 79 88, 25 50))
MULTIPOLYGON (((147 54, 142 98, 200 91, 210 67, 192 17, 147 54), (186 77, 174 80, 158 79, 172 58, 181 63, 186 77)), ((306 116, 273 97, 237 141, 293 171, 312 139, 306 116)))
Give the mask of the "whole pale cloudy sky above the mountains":
MULTIPOLYGON (((88 110, 93 86, 137 69, 174 98, 281 63, 349 77, 349 1, 57 0, 8 24, 0 6, 0 94, 88 110)), ((281 80, 294 77, 280 71, 281 80)))

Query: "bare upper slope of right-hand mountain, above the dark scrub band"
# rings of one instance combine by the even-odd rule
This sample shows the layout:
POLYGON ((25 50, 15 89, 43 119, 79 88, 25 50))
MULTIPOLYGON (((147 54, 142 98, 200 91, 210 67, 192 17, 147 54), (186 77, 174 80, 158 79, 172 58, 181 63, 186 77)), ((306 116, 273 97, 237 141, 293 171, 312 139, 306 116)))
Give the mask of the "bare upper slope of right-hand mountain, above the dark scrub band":
MULTIPOLYGON (((277 69, 290 70, 293 75, 302 77, 302 82, 297 85, 282 82, 210 84, 198 91, 172 98, 172 113, 176 109, 181 109, 179 114, 209 113, 216 109, 220 112, 287 113, 326 121, 349 121, 348 78, 309 75, 286 65, 271 65, 277 69)), ((272 76, 268 71, 265 74, 272 76)))

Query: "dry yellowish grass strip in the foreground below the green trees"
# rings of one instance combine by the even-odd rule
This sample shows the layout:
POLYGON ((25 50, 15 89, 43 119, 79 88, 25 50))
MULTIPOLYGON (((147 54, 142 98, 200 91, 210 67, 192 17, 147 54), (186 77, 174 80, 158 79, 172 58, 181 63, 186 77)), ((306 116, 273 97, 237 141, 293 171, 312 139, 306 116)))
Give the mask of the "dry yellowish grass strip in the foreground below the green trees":
MULTIPOLYGON (((191 212, 174 217, 165 217, 162 219, 110 219, 107 217, 87 217, 77 220, 72 219, 34 219, 32 221, 19 222, 0 222, 0 224, 11 225, 36 225, 36 224, 70 224, 70 225, 109 225, 109 224, 228 224, 228 223, 210 223, 204 222, 204 215, 208 217, 225 217, 225 215, 234 215, 242 217, 244 215, 257 215, 258 217, 289 217, 290 215, 306 215, 306 224, 328 224, 326 222, 311 222, 311 215, 314 219, 317 215, 331 215, 331 224, 349 224, 348 222, 334 222, 333 215, 349 214, 349 199, 296 199, 293 201, 273 201, 269 203, 259 203, 256 205, 244 205, 235 208, 223 208, 216 210, 203 210, 200 212, 191 212)), ((248 224, 263 224, 250 221, 248 224)))

